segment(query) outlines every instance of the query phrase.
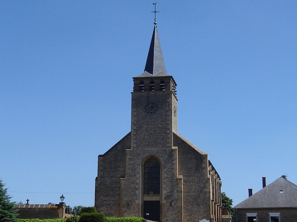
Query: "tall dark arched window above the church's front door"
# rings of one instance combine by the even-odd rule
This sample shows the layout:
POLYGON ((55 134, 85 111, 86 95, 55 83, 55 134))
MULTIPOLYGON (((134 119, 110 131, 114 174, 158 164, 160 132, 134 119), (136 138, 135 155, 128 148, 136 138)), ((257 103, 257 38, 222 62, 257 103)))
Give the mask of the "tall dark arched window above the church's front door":
POLYGON ((160 194, 160 163, 153 157, 143 165, 143 194, 160 194))

